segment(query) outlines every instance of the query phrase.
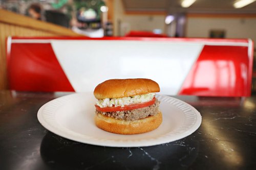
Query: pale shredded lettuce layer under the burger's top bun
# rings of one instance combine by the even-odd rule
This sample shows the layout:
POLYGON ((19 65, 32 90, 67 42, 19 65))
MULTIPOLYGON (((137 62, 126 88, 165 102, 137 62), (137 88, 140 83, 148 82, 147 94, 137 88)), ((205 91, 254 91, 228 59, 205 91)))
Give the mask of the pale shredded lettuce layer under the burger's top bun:
POLYGON ((155 93, 147 93, 147 94, 141 94, 141 95, 134 95, 131 97, 125 97, 125 98, 106 98, 106 99, 99 99, 96 102, 96 105, 99 107, 115 107, 121 106, 124 107, 124 105, 130 105, 135 103, 143 103, 151 101, 155 96, 155 93))

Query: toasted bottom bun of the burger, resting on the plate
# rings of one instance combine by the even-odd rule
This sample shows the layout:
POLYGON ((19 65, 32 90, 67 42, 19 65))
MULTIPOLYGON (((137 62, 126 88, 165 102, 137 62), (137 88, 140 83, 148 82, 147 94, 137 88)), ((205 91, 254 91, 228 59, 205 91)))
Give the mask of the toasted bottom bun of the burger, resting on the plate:
POLYGON ((146 118, 127 121, 115 119, 102 114, 95 116, 95 124, 98 128, 117 134, 132 135, 150 132, 157 129, 162 123, 162 113, 146 118))

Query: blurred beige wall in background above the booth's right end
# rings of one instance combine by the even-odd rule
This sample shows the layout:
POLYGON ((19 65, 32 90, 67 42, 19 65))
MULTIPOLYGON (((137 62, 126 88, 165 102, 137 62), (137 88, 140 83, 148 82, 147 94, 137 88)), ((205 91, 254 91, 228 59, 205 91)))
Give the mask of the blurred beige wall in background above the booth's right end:
MULTIPOLYGON (((251 38, 256 41, 255 17, 188 17, 187 37, 209 37, 210 30, 225 30, 226 38, 251 38)), ((254 47, 256 43, 254 43, 254 47)))

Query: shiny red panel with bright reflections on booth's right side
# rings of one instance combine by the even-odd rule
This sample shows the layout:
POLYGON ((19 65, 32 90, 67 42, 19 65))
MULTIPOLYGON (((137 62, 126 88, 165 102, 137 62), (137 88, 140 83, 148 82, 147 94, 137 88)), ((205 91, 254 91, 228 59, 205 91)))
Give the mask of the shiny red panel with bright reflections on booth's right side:
POLYGON ((247 46, 205 45, 179 94, 249 96, 250 64, 247 46))

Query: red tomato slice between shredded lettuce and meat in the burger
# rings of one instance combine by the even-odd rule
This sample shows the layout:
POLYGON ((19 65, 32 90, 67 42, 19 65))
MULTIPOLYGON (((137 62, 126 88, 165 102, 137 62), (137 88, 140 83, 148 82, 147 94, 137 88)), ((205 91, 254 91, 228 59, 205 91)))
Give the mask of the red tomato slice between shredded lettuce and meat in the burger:
POLYGON ((124 107, 117 106, 117 107, 99 107, 98 105, 95 105, 96 110, 100 112, 117 112, 117 111, 126 111, 126 110, 133 110, 133 109, 139 109, 147 106, 151 106, 155 103, 156 98, 153 98, 151 101, 144 102, 144 103, 136 103, 131 105, 124 105, 124 107))

